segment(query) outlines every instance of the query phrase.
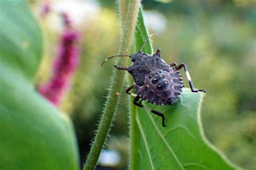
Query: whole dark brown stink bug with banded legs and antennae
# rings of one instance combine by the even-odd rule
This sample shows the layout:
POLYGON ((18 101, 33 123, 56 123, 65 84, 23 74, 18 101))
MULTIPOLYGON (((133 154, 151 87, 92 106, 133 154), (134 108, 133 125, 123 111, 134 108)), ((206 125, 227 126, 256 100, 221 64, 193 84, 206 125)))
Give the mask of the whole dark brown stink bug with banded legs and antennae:
POLYGON ((142 52, 147 40, 156 35, 157 34, 152 34, 147 37, 138 53, 133 55, 114 55, 105 59, 102 65, 111 58, 117 56, 129 56, 132 60, 130 67, 114 66, 119 70, 126 70, 133 77, 134 84, 127 88, 126 93, 135 97, 133 100, 135 105, 160 116, 162 118, 162 125, 165 127, 164 114, 146 107, 142 104, 143 100, 156 105, 170 105, 177 102, 180 98, 181 91, 184 88, 182 77, 179 73, 181 68, 184 68, 185 70, 187 80, 193 93, 199 91, 205 93, 205 90, 194 89, 190 73, 188 73, 188 69, 184 63, 177 65, 176 62, 173 62, 168 65, 161 58, 160 48, 158 48, 154 54, 146 54, 142 52), (137 94, 130 93, 133 88, 137 94))

